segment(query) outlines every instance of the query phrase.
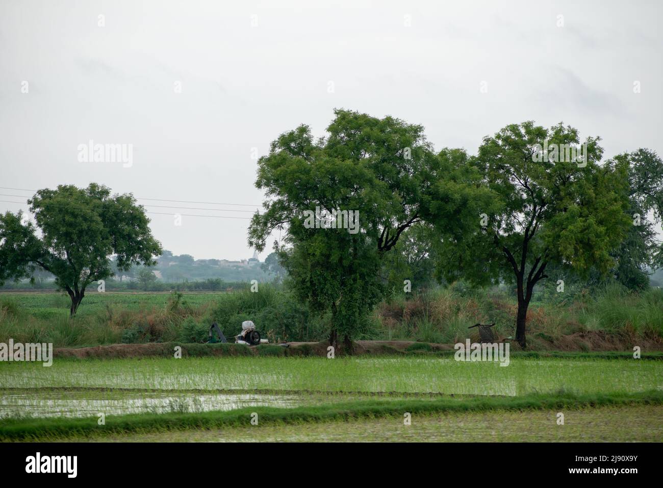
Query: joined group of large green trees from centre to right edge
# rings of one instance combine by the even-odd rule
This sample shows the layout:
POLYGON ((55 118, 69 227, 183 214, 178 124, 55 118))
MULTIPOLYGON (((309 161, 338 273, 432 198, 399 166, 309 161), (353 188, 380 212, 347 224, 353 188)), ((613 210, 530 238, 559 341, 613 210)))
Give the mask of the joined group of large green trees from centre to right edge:
POLYGON ((642 285, 648 266, 661 264, 654 222, 663 216, 663 163, 647 149, 599 164, 599 137, 581 141, 568 125, 525 122, 485 137, 477 155, 436 152, 421 125, 347 110, 335 111, 327 132, 314 139, 300 125, 259 160, 256 186, 268 201, 253 216, 249 244, 263 250, 274 230, 285 232, 274 243, 279 262, 301 299, 331 312, 332 345, 351 348, 387 293, 396 246, 408 261, 435 256, 449 281, 514 285, 522 347, 534 286, 550 270, 613 272, 642 285), (581 158, 542 157, 544 147, 581 143, 581 158), (311 228, 304 210, 316 207, 359 212, 360 231, 311 228), (425 242, 423 252, 408 240, 425 242))

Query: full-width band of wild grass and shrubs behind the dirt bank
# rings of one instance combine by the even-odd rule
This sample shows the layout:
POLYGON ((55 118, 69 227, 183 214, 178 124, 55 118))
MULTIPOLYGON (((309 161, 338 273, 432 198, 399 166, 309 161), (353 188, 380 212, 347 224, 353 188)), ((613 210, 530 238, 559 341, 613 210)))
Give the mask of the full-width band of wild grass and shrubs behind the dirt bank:
MULTIPOLYGON (((558 296, 532 303, 528 347, 534 350, 650 351, 663 343, 663 290, 641 293, 611 285, 592 295, 558 296), (643 347, 646 345, 646 348, 643 347)), ((253 320, 276 341, 320 341, 328 337, 328 316, 313 315, 290 292, 263 284, 257 293, 91 292, 75 319, 59 293, 0 292, 0 342, 48 342, 55 347, 116 343, 204 342, 212 321, 226 335, 253 320)), ((358 324, 357 339, 405 339, 428 343, 463 341, 475 323, 495 323, 498 337, 514 335, 516 303, 504 289, 439 288, 380 303, 358 324)))

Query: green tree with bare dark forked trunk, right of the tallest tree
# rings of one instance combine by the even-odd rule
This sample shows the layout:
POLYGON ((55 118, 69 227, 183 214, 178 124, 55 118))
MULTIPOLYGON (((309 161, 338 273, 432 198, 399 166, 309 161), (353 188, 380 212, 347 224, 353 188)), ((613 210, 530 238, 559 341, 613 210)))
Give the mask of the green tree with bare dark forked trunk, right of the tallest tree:
MULTIPOLYGON (((599 139, 585 141, 583 159, 544 147, 579 146, 573 127, 546 129, 532 122, 508 125, 485 137, 476 157, 457 155, 456 167, 473 167, 493 199, 473 216, 473 228, 443 240, 440 266, 449 280, 515 285, 516 340, 526 347, 527 309, 534 285, 557 262, 579 273, 606 273, 611 252, 632 225, 625 164, 601 167, 599 139)), ((467 229, 467 226, 465 226, 467 229)))

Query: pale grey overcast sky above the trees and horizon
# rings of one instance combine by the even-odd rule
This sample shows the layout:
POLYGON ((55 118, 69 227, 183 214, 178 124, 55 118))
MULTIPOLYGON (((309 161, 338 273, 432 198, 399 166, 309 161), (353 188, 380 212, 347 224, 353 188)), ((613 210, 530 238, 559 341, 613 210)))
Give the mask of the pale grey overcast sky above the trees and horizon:
POLYGON ((263 202, 252 156, 300 123, 322 135, 333 108, 420 123, 436 149, 534 120, 600 135, 604 159, 662 154, 661 5, 0 0, 0 186, 131 192, 164 213, 164 248, 235 260, 263 202), (133 164, 79 161, 90 139, 133 164))

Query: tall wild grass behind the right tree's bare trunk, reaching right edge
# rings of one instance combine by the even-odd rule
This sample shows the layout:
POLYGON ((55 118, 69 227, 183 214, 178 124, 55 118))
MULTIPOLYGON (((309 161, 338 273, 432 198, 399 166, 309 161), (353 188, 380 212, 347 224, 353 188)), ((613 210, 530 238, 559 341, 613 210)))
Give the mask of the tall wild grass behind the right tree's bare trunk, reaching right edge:
MULTIPOLYGON (((563 295, 564 293, 557 293, 563 295)), ((615 283, 577 291, 573 299, 533 301, 527 313, 527 331, 532 345, 552 345, 562 335, 605 331, 634 339, 663 337, 663 290, 650 288, 640 293, 615 283)), ((380 339, 406 339, 422 342, 455 343, 476 339, 475 323, 495 323, 498 339, 514 334, 517 304, 514 293, 505 286, 472 289, 465 284, 420 293, 396 295, 381 303, 375 315, 380 339)))

